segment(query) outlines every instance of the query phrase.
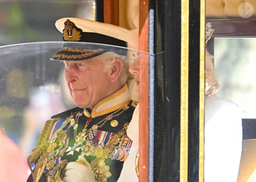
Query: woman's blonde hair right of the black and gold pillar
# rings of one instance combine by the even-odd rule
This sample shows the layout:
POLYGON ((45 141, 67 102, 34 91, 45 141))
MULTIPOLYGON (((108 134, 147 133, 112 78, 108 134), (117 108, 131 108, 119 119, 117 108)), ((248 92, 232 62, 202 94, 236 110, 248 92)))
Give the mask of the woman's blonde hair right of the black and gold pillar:
POLYGON ((205 95, 216 95, 218 92, 218 81, 213 67, 213 56, 205 49, 205 95))

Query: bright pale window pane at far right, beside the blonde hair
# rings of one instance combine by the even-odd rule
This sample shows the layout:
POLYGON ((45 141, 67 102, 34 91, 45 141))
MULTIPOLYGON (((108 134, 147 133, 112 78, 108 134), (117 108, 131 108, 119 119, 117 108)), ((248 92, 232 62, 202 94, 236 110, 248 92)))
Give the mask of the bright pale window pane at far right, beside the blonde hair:
POLYGON ((256 118, 256 38, 215 38, 218 96, 233 100, 243 118, 256 118))

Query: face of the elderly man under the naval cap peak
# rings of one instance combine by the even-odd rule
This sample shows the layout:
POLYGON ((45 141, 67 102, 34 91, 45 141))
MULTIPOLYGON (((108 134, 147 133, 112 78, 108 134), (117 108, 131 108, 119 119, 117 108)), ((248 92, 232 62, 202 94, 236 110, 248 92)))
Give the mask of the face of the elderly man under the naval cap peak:
POLYGON ((76 106, 90 108, 109 95, 109 72, 103 72, 98 57, 83 61, 64 61, 65 79, 76 106))

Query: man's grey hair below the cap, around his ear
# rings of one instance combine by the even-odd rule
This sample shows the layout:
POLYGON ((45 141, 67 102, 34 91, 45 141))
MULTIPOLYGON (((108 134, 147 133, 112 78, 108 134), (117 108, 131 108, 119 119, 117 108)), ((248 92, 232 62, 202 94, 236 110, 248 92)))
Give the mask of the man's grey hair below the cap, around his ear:
POLYGON ((102 58, 100 59, 103 64, 102 71, 108 71, 112 69, 115 65, 116 58, 122 62, 122 68, 120 73, 120 83, 123 85, 127 82, 129 76, 129 63, 127 60, 127 56, 118 55, 115 52, 105 52, 104 54, 100 55, 102 58))

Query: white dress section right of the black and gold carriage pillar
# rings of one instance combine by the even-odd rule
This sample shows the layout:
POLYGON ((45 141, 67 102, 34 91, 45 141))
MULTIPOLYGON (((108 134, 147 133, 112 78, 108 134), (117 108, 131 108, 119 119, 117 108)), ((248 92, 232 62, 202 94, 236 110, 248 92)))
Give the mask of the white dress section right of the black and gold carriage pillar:
POLYGON ((237 182, 241 149, 240 108, 232 101, 206 96, 204 182, 237 182))

